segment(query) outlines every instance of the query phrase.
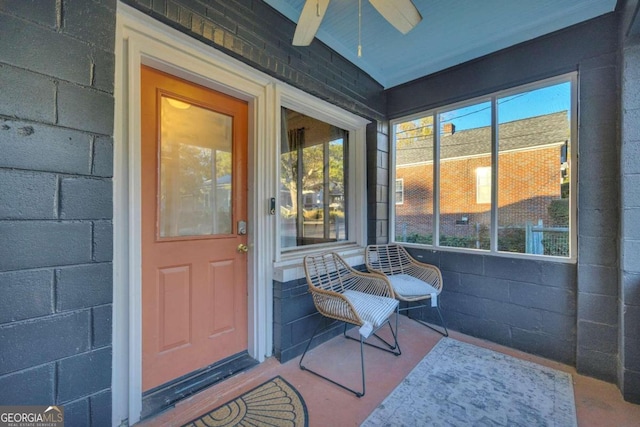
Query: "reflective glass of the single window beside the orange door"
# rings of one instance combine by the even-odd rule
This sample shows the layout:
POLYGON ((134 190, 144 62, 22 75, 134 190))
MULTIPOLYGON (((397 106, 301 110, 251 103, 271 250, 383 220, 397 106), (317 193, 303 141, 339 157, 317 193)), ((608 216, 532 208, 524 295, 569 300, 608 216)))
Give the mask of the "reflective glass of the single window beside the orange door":
POLYGON ((282 248, 347 240, 347 139, 345 130, 282 109, 282 248))

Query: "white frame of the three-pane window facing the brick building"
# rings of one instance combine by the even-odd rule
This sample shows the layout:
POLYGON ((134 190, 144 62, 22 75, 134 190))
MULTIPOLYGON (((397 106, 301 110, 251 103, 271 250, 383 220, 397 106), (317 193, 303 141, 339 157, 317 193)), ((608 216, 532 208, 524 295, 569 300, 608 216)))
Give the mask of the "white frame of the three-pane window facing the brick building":
MULTIPOLYGON (((503 89, 496 92, 487 93, 482 96, 477 96, 474 98, 465 99, 463 101, 451 103, 451 104, 442 104, 436 106, 434 108, 430 108, 428 110, 419 111, 410 115, 405 115, 402 117, 397 117, 390 120, 390 150, 389 150, 389 186, 391 186, 396 181, 396 133, 395 127, 396 125, 420 119, 425 116, 433 116, 434 129, 440 129, 440 113, 452 110, 459 109, 463 107, 467 107, 473 104, 481 103, 481 102, 491 102, 491 248, 489 250, 486 249, 473 249, 473 248, 459 248, 452 246, 441 246, 438 244, 424 244, 424 243, 407 243, 400 242, 396 240, 396 197, 395 191, 389 192, 389 205, 391 207, 389 213, 389 241, 401 243, 402 245, 417 247, 417 248, 429 248, 429 249, 437 249, 443 252, 466 252, 466 253, 474 253, 474 254, 486 254, 507 258, 526 258, 526 259, 538 259, 538 260, 546 260, 546 261, 555 261, 555 262, 563 262, 563 263, 575 263, 577 261, 577 179, 578 179, 578 127, 579 127, 579 112, 578 112, 578 72, 570 72, 566 74, 561 74, 558 76, 537 80, 534 82, 530 82, 523 85, 518 85, 514 87, 510 87, 507 89, 503 89), (498 208, 496 205, 496 199, 498 194, 498 105, 497 100, 499 98, 507 97, 510 95, 516 95, 518 93, 532 91, 536 89, 542 89, 544 87, 553 86, 561 83, 570 83, 570 159, 571 159, 571 168, 570 168, 570 184, 569 184, 569 256, 555 256, 555 255, 540 255, 540 254, 527 254, 527 253, 518 253, 518 252, 505 252, 498 250, 498 208)), ((440 132, 434 132, 434 161, 433 161, 433 187, 434 187, 434 196, 433 196, 433 241, 439 242, 440 239, 440 132)), ((475 199, 475 197, 474 197, 475 199)))

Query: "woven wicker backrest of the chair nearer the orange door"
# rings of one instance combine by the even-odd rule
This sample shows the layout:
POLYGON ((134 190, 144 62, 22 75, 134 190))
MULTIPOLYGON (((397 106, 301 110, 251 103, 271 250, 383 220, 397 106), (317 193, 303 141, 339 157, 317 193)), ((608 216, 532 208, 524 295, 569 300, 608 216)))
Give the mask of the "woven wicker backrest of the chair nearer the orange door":
POLYGON ((334 252, 304 257, 304 273, 309 287, 338 293, 351 289, 357 279, 349 264, 334 252))

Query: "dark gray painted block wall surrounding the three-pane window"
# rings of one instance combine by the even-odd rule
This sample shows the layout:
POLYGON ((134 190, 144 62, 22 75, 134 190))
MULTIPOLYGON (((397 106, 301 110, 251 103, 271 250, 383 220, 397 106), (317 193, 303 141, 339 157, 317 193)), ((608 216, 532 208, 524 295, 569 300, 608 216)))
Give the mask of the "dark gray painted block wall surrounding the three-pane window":
POLYGON ((619 330, 617 29, 608 14, 387 91, 394 118, 579 71, 577 265, 415 252, 443 269, 453 329, 609 382, 619 330))

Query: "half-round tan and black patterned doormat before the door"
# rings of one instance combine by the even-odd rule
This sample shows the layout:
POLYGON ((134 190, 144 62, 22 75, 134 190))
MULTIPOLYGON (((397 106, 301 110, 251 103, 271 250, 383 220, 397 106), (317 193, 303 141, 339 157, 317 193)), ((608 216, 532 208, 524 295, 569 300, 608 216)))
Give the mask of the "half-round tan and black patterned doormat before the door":
POLYGON ((186 426, 307 427, 307 406, 300 393, 277 376, 183 427, 186 426))

